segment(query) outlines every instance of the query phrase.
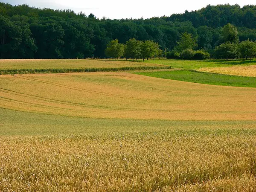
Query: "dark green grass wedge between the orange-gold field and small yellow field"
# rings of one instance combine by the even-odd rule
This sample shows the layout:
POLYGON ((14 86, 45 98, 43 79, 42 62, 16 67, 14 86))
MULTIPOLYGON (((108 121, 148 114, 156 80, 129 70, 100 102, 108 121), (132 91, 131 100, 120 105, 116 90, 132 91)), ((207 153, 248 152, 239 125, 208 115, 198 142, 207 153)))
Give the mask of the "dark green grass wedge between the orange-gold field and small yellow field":
POLYGON ((202 84, 214 84, 235 87, 256 87, 256 77, 230 76, 190 70, 139 72, 136 74, 202 84))

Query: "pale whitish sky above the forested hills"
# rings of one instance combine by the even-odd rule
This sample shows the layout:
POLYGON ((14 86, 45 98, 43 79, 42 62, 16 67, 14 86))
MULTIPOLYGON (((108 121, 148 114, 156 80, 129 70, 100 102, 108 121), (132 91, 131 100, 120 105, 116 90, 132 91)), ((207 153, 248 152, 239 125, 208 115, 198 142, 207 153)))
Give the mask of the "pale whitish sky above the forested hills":
POLYGON ((255 0, 1 0, 12 5, 50 9, 71 9, 74 12, 93 13, 97 18, 105 16, 110 19, 151 18, 195 11, 207 5, 239 4, 240 6, 256 4, 255 0))

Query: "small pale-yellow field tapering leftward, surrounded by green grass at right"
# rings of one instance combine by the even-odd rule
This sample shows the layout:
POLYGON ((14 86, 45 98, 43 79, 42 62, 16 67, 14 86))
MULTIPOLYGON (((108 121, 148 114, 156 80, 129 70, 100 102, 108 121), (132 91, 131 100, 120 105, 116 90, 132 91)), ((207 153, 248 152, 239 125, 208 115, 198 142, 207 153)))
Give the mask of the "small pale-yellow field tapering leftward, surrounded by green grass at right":
POLYGON ((198 71, 207 73, 220 73, 234 76, 256 77, 256 65, 233 67, 206 67, 200 68, 198 69, 198 71))

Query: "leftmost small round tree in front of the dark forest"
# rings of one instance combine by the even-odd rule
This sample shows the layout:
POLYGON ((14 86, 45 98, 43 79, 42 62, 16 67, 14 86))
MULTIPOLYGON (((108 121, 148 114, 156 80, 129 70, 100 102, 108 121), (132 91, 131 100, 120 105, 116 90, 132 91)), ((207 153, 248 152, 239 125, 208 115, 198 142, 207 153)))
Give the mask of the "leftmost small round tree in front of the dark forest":
POLYGON ((112 40, 109 42, 109 44, 107 45, 106 48, 106 55, 108 57, 112 57, 112 58, 119 58, 123 55, 124 53, 124 45, 123 44, 119 44, 118 40, 112 40))

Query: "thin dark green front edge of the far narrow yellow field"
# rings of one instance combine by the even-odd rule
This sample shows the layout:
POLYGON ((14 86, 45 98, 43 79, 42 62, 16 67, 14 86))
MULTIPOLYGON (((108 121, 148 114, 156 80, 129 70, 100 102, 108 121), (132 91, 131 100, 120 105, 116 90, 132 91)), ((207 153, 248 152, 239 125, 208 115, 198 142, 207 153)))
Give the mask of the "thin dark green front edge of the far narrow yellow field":
POLYGON ((84 69, 19 69, 0 70, 0 75, 35 74, 35 73, 70 73, 70 72, 102 72, 102 71, 130 71, 130 70, 160 70, 172 69, 170 66, 141 66, 141 67, 112 67, 112 68, 84 68, 84 69))

